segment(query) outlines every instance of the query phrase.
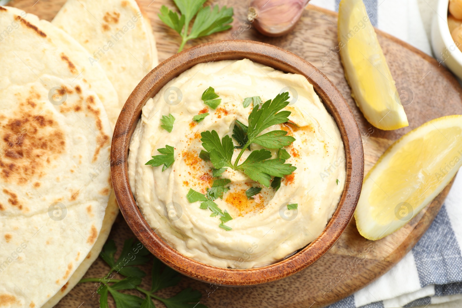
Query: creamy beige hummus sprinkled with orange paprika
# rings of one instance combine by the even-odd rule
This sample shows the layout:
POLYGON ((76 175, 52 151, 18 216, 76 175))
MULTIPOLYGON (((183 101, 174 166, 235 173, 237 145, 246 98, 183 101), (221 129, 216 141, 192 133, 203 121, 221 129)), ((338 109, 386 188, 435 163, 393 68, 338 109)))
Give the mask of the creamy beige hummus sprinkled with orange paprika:
MULTIPOLYGON (((252 151, 261 148, 251 144, 252 151)), ((278 150, 270 151, 275 158, 278 150)), ((240 163, 249 154, 244 151, 240 163)), ((149 99, 132 137, 128 170, 140 211, 158 236, 189 258, 240 269, 274 263, 316 239, 335 211, 346 176, 339 129, 313 86, 302 75, 247 59, 198 64, 149 99), (221 99, 215 110, 201 100, 210 86, 221 99), (286 163, 297 169, 275 191, 228 168, 221 177, 231 180, 230 190, 214 202, 229 212, 233 219, 226 226, 232 229, 219 228, 218 217, 186 198, 190 188, 205 194, 214 179, 212 163, 199 157, 204 150, 201 132, 215 130, 220 139, 231 136, 235 120, 248 124, 252 104, 244 108, 244 98, 260 96, 265 102, 286 91, 291 103, 283 110, 292 112, 289 120, 296 125, 275 125, 263 133, 282 129, 296 139, 285 149, 291 155, 286 163), (205 112, 204 120, 193 121, 205 112), (169 114, 175 117, 171 133, 161 127, 162 116, 169 114), (145 165, 165 145, 175 148, 175 162, 163 172, 162 166, 145 165), (262 188, 254 199, 245 194, 250 187, 262 188), (298 208, 288 210, 288 204, 298 208)))

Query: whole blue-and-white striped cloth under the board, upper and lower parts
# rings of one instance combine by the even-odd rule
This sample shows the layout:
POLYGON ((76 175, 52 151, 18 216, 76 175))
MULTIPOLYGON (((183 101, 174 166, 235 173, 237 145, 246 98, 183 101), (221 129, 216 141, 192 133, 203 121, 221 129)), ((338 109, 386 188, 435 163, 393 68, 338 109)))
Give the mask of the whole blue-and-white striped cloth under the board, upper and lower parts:
MULTIPOLYGON (((422 21, 417 0, 363 1, 374 26, 432 54, 424 27, 424 23, 431 21, 422 21)), ((310 4, 337 11, 339 2, 312 0, 310 4)), ((429 7, 435 3, 424 2, 423 6, 429 7)), ((462 299, 460 247, 462 173, 456 178, 438 216, 412 251, 381 278, 329 308, 430 308, 444 302, 456 304, 455 301, 462 299)), ((462 301, 450 307, 462 307, 462 301)))

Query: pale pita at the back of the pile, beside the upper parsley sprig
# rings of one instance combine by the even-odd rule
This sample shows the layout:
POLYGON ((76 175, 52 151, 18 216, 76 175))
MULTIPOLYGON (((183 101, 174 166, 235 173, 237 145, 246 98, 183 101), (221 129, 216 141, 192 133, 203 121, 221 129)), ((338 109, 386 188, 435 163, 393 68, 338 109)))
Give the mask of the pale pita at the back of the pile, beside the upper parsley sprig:
POLYGON ((157 66, 149 20, 134 0, 68 0, 52 24, 75 38, 99 63, 119 96, 128 96, 157 66))

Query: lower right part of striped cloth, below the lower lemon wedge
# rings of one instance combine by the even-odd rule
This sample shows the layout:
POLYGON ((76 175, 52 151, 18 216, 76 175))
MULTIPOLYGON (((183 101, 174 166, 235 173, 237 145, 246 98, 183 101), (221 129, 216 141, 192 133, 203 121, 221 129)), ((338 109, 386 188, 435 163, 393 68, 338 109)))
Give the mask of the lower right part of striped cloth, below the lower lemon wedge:
POLYGON ((459 173, 444 205, 417 245, 389 272, 329 308, 426 307, 462 300, 461 205, 459 173))

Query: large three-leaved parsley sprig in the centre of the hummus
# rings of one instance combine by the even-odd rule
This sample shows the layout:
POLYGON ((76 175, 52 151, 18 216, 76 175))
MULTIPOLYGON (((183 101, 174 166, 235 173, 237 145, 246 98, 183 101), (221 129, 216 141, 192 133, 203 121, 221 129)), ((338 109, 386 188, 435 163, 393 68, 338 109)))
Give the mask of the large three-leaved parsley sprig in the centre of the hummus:
POLYGON ((271 177, 283 177, 291 174, 297 168, 290 163, 285 163, 286 159, 282 157, 269 159, 272 155, 266 149, 252 151, 249 157, 239 164, 239 159, 252 143, 267 149, 281 149, 295 141, 292 136, 286 136, 287 132, 283 130, 274 130, 260 135, 268 127, 289 121, 288 116, 291 112, 281 111, 289 104, 288 98, 288 92, 278 94, 273 100, 266 101, 261 108, 254 107, 249 115, 248 126, 238 122, 239 128, 235 126, 233 129, 233 138, 239 143, 237 148, 240 148, 241 151, 234 163, 231 160, 235 146, 231 137, 225 135, 220 141, 218 133, 214 130, 201 133, 202 146, 206 150, 201 151, 201 156, 207 157, 206 152, 208 152, 208 157, 215 169, 227 167, 241 170, 250 179, 266 187, 270 186, 271 177))

